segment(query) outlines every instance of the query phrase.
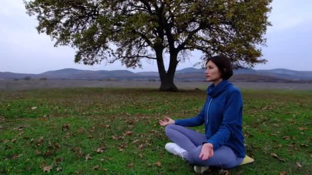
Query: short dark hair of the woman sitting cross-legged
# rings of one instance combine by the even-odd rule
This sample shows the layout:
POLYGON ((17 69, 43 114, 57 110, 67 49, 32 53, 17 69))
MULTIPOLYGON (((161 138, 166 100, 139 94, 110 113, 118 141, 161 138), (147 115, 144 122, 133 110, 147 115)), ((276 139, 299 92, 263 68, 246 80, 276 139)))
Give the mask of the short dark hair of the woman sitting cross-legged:
POLYGON ((207 59, 206 64, 212 61, 217 65, 219 71, 221 72, 222 79, 228 80, 233 75, 231 61, 228 57, 224 55, 217 55, 207 59))

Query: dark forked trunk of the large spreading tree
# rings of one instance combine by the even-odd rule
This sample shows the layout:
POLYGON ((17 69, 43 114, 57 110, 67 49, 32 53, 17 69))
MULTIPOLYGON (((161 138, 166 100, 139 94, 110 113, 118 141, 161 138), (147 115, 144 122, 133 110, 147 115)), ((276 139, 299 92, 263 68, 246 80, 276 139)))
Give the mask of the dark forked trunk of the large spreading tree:
POLYGON ((175 52, 170 53, 169 68, 168 72, 166 72, 163 60, 163 51, 161 50, 156 52, 158 72, 161 80, 161 85, 159 88, 160 91, 171 91, 171 92, 178 91, 177 86, 175 86, 173 82, 175 69, 177 68, 178 65, 177 56, 178 53, 175 52))

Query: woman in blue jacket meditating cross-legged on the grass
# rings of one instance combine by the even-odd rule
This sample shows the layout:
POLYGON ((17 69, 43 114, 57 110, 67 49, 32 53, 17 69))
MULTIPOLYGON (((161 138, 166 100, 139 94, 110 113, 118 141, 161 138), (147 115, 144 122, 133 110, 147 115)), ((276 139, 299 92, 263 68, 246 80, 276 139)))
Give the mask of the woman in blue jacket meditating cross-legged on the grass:
POLYGON ((194 170, 201 173, 209 166, 223 169, 238 166, 245 157, 243 100, 240 90, 228 82, 233 75, 230 60, 214 56, 207 60, 206 66, 206 80, 213 83, 206 91, 207 99, 200 114, 189 119, 159 120, 174 142, 167 143, 165 149, 196 165, 194 170), (187 128, 202 124, 205 134, 187 128))

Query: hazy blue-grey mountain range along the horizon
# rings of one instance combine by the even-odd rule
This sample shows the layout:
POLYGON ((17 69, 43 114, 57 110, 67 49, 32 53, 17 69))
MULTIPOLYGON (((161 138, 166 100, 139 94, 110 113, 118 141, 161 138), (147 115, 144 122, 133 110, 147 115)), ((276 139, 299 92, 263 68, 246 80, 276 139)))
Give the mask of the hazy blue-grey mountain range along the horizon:
MULTIPOLYGON (((159 80, 158 72, 133 73, 127 70, 114 71, 88 71, 79 69, 61 69, 48 71, 41 74, 22 74, 12 72, 0 72, 0 79, 89 79, 89 80, 159 80)), ((175 72, 175 81, 205 81, 205 70, 196 68, 185 68, 175 72)), ((273 81, 290 82, 302 81, 312 82, 312 71, 294 71, 287 69, 234 70, 231 81, 273 81)))

